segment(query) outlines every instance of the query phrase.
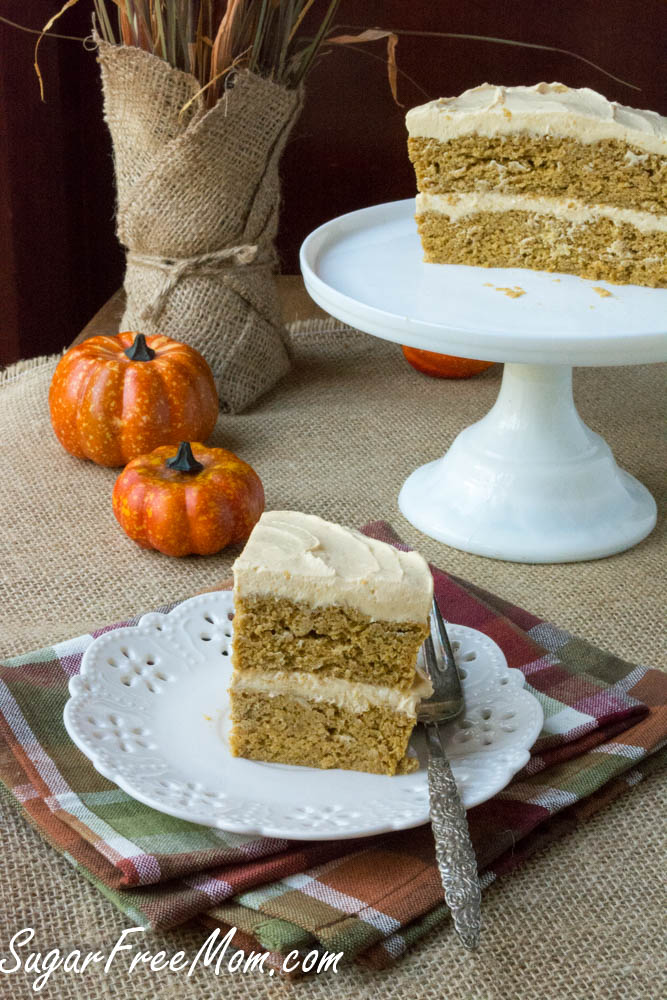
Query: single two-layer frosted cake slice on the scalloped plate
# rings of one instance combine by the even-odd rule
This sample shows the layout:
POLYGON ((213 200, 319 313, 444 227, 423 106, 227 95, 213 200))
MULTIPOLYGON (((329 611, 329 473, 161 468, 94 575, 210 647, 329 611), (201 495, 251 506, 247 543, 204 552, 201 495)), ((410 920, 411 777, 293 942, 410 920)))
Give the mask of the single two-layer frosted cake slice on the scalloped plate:
POLYGON ((296 511, 262 514, 234 563, 230 744, 238 757, 414 770, 416 669, 433 581, 399 552, 296 511))

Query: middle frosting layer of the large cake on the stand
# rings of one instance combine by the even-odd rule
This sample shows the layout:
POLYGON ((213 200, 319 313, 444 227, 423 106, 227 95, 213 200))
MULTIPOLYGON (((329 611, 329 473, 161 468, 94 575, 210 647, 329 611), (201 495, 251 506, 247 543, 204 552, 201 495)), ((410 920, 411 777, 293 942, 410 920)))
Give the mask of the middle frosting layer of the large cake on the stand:
POLYGON ((667 233, 667 216, 641 212, 634 208, 615 205, 587 205, 576 198, 544 198, 532 195, 505 194, 498 191, 471 192, 469 194, 418 194, 417 215, 439 212, 456 222, 476 212, 534 212, 552 215, 565 222, 591 222, 593 219, 611 219, 620 224, 629 223, 640 232, 667 233))

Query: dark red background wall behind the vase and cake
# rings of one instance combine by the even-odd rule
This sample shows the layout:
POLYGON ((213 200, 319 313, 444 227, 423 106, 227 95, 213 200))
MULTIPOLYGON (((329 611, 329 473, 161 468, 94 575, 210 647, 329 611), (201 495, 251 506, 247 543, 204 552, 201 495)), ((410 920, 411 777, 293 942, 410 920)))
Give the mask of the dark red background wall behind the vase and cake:
MULTIPOLYGON (((324 5, 325 0, 319 0, 324 5)), ((41 27, 60 0, 0 0, 0 13, 41 27)), ((90 30, 87 0, 56 30, 90 30)), ((492 35, 573 50, 640 87, 631 90, 560 53, 489 42, 401 36, 399 98, 387 84, 385 45, 336 49, 308 81, 306 106, 283 158, 278 249, 285 273, 321 222, 410 196, 405 110, 484 81, 561 80, 667 114, 664 0, 342 0, 341 25, 492 35)), ((120 286, 111 147, 97 65, 80 43, 45 40, 46 104, 32 68, 35 36, 0 23, 0 363, 58 350, 120 286)))

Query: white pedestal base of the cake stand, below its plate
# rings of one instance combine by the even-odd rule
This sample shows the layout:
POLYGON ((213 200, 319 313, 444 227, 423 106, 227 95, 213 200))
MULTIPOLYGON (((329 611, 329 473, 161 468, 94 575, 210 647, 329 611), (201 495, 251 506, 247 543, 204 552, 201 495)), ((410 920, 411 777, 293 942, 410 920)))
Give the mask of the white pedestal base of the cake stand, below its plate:
POLYGON ((425 534, 513 562, 613 555, 656 522, 651 494, 581 420, 561 365, 506 364, 489 413, 416 469, 398 502, 425 534))

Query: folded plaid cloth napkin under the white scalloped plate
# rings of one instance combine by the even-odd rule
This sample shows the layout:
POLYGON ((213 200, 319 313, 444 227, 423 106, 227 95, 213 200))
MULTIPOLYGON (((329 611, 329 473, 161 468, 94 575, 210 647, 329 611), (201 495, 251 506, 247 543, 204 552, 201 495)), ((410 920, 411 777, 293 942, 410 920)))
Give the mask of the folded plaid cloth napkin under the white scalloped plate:
MULTIPOLYGON (((384 522, 363 530, 404 547, 384 522)), ((433 574, 445 617, 494 639, 544 708, 528 765, 468 812, 486 887, 657 765, 667 676, 433 574)), ((155 929, 191 918, 233 926, 234 947, 266 950, 276 968, 289 951, 318 948, 381 968, 447 918, 428 826, 356 841, 241 836, 156 812, 99 775, 70 742, 62 713, 84 650, 120 624, 128 623, 0 665, 0 778, 49 843, 129 920, 155 929)))

